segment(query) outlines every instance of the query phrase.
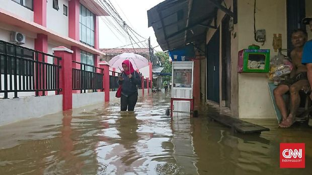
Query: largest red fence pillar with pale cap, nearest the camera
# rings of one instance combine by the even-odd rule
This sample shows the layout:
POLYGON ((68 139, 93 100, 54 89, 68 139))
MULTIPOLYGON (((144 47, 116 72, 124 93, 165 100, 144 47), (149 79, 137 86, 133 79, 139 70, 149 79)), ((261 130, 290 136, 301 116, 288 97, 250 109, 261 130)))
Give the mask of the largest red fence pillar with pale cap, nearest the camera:
POLYGON ((73 51, 64 46, 52 48, 52 51, 54 51, 55 56, 62 58, 60 61, 61 69, 59 72, 59 88, 61 88, 60 94, 63 95, 63 110, 72 109, 71 54, 73 51))

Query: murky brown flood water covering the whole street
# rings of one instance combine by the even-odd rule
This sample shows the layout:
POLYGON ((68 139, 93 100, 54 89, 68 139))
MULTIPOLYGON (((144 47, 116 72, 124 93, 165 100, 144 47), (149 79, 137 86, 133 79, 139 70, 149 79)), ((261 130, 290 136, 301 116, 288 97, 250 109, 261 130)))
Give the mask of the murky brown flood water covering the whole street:
POLYGON ((119 104, 80 108, 0 127, 0 174, 312 174, 312 129, 233 133, 199 117, 165 115, 170 94, 139 98, 134 113, 119 104), (305 143, 305 168, 279 168, 279 143, 305 143))

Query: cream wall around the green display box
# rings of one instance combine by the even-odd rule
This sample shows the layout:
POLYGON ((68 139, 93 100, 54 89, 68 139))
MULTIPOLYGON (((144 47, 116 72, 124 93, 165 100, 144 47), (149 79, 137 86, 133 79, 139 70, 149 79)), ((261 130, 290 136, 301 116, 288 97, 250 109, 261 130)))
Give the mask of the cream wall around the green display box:
MULTIPOLYGON (((251 44, 257 44, 261 49, 270 49, 272 58, 278 54, 272 46, 273 34, 282 34, 282 48, 287 48, 286 1, 257 1, 256 29, 265 29, 267 36, 263 46, 254 40, 253 24, 254 2, 238 1, 238 51, 248 48, 251 44)), ((266 73, 240 73, 238 80, 240 118, 276 118, 266 73)))

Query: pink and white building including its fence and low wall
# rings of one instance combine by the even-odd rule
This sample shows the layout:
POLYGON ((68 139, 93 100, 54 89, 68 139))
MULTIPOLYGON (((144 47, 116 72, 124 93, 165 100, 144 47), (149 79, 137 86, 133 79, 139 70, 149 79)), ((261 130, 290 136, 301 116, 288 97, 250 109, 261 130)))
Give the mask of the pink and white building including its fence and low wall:
MULTIPOLYGON (((0 126, 119 100, 99 61, 99 16, 108 14, 97 2, 1 1, 0 126)), ((149 92, 148 77, 142 81, 139 95, 149 92)))

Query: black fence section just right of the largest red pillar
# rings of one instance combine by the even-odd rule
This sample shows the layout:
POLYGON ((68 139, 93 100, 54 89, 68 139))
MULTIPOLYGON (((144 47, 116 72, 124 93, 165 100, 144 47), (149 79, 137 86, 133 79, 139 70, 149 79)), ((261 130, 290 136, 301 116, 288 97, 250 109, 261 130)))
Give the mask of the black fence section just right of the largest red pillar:
POLYGON ((103 91, 103 69, 84 63, 72 61, 80 65, 80 69, 72 68, 72 89, 86 93, 87 90, 103 91), (100 70, 101 73, 98 73, 100 70))

